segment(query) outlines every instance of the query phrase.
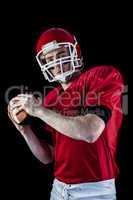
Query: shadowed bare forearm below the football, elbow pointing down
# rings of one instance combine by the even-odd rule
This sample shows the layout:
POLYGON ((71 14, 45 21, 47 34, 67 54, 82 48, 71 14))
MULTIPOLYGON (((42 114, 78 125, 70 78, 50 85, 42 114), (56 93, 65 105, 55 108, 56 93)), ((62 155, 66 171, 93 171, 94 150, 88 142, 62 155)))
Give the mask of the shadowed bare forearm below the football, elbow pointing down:
POLYGON ((34 156, 44 164, 52 162, 52 150, 45 141, 40 141, 31 128, 24 130, 23 137, 34 156))

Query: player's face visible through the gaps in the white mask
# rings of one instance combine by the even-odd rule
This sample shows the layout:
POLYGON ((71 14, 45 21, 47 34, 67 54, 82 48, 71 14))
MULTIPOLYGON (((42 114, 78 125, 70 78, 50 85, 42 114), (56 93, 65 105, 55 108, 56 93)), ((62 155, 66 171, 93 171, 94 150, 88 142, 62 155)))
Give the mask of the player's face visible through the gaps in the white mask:
MULTIPOLYGON (((60 59, 60 58, 67 57, 67 56, 69 56, 68 49, 65 48, 65 47, 62 47, 60 49, 57 49, 57 50, 54 50, 54 51, 47 53, 45 55, 45 59, 46 59, 46 62, 49 63, 49 62, 52 62, 52 61, 56 61, 56 59, 60 59)), ((70 62, 64 63, 62 65, 62 70, 63 70, 63 72, 70 70, 70 62)), ((57 76, 57 75, 61 74, 60 65, 53 66, 50 69, 50 71, 53 74, 53 76, 57 76)))

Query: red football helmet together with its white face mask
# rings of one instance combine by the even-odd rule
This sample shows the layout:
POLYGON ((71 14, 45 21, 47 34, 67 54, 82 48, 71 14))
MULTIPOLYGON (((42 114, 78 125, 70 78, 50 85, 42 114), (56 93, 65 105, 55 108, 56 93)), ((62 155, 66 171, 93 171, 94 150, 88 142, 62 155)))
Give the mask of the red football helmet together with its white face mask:
POLYGON ((52 81, 65 81, 67 76, 75 72, 76 68, 82 66, 80 46, 74 35, 62 28, 50 28, 43 32, 36 45, 36 59, 41 67, 44 77, 52 81), (45 56, 54 50, 66 48, 67 55, 47 62, 45 56), (67 71, 63 71, 63 66, 70 65, 67 71), (51 68, 60 66, 60 75, 53 76, 51 68))

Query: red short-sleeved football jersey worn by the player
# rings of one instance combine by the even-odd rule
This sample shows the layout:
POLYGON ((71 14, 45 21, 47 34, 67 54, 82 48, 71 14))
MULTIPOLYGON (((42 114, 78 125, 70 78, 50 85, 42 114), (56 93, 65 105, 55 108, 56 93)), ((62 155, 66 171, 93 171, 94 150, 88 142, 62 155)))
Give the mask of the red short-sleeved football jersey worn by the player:
POLYGON ((87 108, 103 105, 111 117, 94 143, 75 140, 47 126, 55 147, 54 176, 64 183, 85 183, 111 179, 117 176, 116 148, 122 122, 121 74, 112 66, 97 66, 74 80, 62 91, 59 86, 44 99, 44 106, 62 115, 87 114, 87 108), (62 91, 62 92, 61 92, 62 91))

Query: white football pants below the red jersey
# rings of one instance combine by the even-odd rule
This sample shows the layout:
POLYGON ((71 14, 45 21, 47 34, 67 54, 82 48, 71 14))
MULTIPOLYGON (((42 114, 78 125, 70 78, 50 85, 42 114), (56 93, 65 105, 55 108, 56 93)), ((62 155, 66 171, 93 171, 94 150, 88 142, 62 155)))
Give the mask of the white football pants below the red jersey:
POLYGON ((80 184, 53 182, 50 200, 116 200, 115 180, 80 184))

